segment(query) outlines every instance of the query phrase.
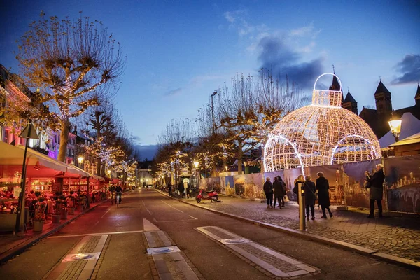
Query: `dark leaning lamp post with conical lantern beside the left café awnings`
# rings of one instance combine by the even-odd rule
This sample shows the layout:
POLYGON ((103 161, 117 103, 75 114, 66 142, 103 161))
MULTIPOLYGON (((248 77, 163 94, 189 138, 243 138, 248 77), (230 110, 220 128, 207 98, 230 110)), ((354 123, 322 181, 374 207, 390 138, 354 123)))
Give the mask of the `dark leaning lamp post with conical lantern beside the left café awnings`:
MULTIPOLYGON (((38 134, 36 134, 36 130, 32 121, 29 119, 28 124, 25 129, 19 134, 19 137, 25 138, 25 153, 23 154, 23 165, 22 165, 22 181, 20 182, 20 194, 18 200, 18 214, 16 215, 16 223, 15 223, 15 233, 20 229, 20 219, 24 220, 25 218, 25 186, 26 186, 26 155, 28 151, 28 144, 29 139, 39 139, 38 134), (23 215, 22 215, 23 213, 23 215)), ((25 220, 24 220, 25 221, 25 220)), ((23 221, 22 221, 23 222, 23 221)))

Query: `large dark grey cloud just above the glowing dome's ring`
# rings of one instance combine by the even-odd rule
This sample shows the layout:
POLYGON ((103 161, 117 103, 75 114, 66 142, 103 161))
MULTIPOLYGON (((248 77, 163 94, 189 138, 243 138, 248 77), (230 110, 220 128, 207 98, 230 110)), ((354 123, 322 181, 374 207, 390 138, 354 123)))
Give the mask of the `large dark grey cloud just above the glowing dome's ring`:
POLYGON ((259 43, 258 60, 261 68, 272 69, 274 73, 287 75, 292 83, 303 89, 313 86, 313 81, 323 72, 322 59, 300 62, 301 55, 288 48, 281 38, 267 36, 259 43))

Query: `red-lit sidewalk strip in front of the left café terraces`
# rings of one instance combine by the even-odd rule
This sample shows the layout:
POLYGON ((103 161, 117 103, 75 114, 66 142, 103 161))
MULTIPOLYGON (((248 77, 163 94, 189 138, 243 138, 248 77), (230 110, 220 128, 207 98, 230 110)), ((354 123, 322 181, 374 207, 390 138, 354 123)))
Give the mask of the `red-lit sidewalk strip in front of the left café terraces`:
POLYGON ((67 220, 61 220, 60 223, 52 223, 52 220, 49 219, 45 221, 42 232, 34 232, 30 229, 26 233, 19 232, 17 235, 13 235, 11 233, 0 235, 0 264, 6 262, 10 258, 13 258, 15 255, 22 253, 22 251, 25 251, 29 246, 32 246, 41 239, 48 237, 48 235, 52 235, 52 233, 71 223, 71 221, 76 220, 79 216, 106 202, 109 202, 109 200, 90 203, 89 209, 86 209, 83 212, 76 210, 74 215, 69 214, 67 220))

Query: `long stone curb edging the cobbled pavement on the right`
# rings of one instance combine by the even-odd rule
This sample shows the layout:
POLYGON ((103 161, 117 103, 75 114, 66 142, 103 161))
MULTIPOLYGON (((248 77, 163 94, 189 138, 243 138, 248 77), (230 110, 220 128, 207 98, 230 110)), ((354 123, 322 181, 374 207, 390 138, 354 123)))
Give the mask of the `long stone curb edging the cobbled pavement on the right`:
POLYGON ((320 241, 323 244, 336 246, 336 247, 345 249, 347 251, 353 251, 353 252, 356 252, 356 253, 360 253, 361 255, 368 255, 368 256, 370 256, 372 258, 376 258, 378 260, 384 260, 386 262, 393 262, 397 265, 402 265, 404 267, 409 267, 411 269, 420 270, 420 262, 416 262, 414 260, 407 260, 405 258, 400 258, 400 257, 397 257, 395 255, 389 255, 387 253, 380 253, 378 251, 375 251, 375 250, 372 250, 372 249, 369 249, 369 248, 365 248, 365 247, 362 247, 362 246, 353 245, 353 244, 350 244, 350 243, 347 243, 347 242, 344 242, 344 241, 338 241, 338 240, 331 239, 331 238, 328 238, 328 237, 321 237, 319 235, 314 235, 314 234, 311 234, 311 233, 308 233, 308 232, 301 232, 301 231, 298 231, 298 230, 293 230, 291 228, 285 228, 285 227, 282 227, 280 225, 273 225, 273 224, 270 224, 270 223, 263 223, 261 221, 255 221, 255 220, 250 219, 250 218, 244 218, 244 217, 237 216, 237 215, 234 215, 234 214, 229 214, 229 213, 226 213, 226 212, 223 212, 223 211, 210 209, 210 208, 204 207, 200 204, 195 205, 195 204, 192 204, 190 202, 180 200, 177 197, 170 197, 169 195, 167 195, 166 193, 163 193, 160 190, 157 190, 157 191, 159 193, 161 193, 162 195, 166 195, 167 197, 172 198, 173 200, 178 200, 180 202, 189 204, 193 207, 199 207, 201 209, 206 209, 206 210, 214 212, 216 214, 221 214, 223 216, 228 216, 230 218, 235 218, 237 220, 252 223, 254 225, 260 225, 260 226, 265 227, 265 228, 269 228, 269 229, 272 229, 272 230, 277 230, 279 232, 284 232, 284 233, 287 233, 289 235, 301 237, 301 238, 304 238, 304 239, 307 239, 307 240, 320 241))

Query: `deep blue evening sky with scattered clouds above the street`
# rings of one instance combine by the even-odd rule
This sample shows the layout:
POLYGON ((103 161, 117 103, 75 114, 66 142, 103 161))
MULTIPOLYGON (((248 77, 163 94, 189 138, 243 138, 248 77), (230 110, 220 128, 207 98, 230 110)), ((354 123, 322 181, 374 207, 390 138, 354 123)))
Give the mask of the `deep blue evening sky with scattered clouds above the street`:
MULTIPOLYGON (((141 145, 156 144, 172 118, 197 116, 219 85, 262 66, 311 92, 332 71, 363 106, 379 77, 393 109, 414 105, 420 80, 420 1, 1 1, 0 64, 29 22, 46 15, 101 20, 123 46, 127 69, 117 109, 141 145)), ((328 83, 328 81, 327 81, 328 83)))

